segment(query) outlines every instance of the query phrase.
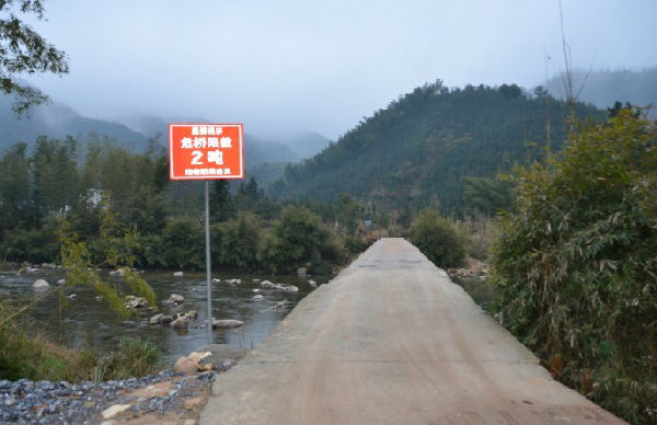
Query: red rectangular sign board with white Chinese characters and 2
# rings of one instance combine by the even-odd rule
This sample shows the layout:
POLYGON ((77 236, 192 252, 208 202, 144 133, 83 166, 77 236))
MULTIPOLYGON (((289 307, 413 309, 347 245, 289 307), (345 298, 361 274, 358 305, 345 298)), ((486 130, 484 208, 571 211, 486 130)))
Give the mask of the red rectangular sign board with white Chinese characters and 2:
POLYGON ((244 179, 242 124, 170 124, 171 180, 244 179))

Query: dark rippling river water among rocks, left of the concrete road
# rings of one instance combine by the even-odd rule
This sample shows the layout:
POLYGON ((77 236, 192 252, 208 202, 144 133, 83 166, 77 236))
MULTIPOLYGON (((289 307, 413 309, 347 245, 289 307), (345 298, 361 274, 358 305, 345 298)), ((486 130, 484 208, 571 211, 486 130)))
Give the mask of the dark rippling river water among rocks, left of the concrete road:
MULTIPOLYGON (((37 274, 16 276, 13 273, 0 274, 0 296, 12 299, 31 299, 35 292, 31 289, 32 283, 37 278, 46 279, 50 285, 62 277, 60 271, 41 271, 37 274)), ((107 271, 103 272, 107 276, 107 271)), ((158 300, 180 294, 185 297, 181 306, 158 306, 158 312, 164 314, 184 313, 189 310, 198 312, 198 319, 192 325, 200 325, 207 319, 206 282, 205 273, 185 273, 184 277, 174 277, 172 273, 147 272, 145 279, 151 285, 158 300)), ((287 315, 306 295, 313 288, 307 279, 297 276, 247 276, 221 275, 212 277, 229 279, 240 278, 242 284, 228 285, 224 283, 212 284, 212 315, 216 319, 237 319, 245 323, 244 326, 232 330, 216 330, 212 332, 214 343, 224 343, 240 347, 252 348, 274 331, 278 323, 287 315), (253 279, 268 279, 277 284, 290 284, 299 287, 295 294, 280 290, 264 289, 253 279), (258 292, 254 292, 258 289, 258 292), (254 300, 253 296, 260 294, 264 298, 254 300), (290 309, 272 310, 270 307, 281 300, 290 301, 290 309)), ((316 278, 318 284, 325 283, 327 278, 316 278)), ((145 311, 135 318, 124 321, 113 313, 103 300, 95 298, 90 288, 67 287, 65 294, 74 298, 68 300, 68 307, 59 312, 57 297, 47 297, 30 310, 39 329, 46 331, 50 337, 68 347, 93 347, 99 353, 115 349, 124 337, 141 337, 157 344, 164 360, 173 361, 182 355, 207 343, 206 329, 189 329, 185 333, 176 333, 168 325, 150 325, 148 319, 155 314, 145 311)))

